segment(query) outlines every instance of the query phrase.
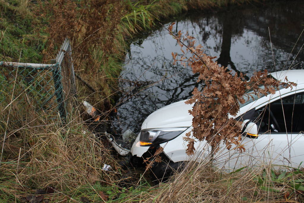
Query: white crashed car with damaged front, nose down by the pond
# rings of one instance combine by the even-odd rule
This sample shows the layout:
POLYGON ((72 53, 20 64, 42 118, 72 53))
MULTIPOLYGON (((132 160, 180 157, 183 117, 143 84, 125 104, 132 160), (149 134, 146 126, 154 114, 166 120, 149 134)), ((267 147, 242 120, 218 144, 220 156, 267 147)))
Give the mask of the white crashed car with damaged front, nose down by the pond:
MULTIPOLYGON (((242 119, 242 144, 246 151, 226 150, 225 146, 214 156, 216 167, 235 170, 261 164, 298 167, 304 161, 304 70, 279 71, 270 74, 284 81, 295 82, 296 87, 282 88, 274 95, 250 99, 242 104, 235 119, 242 119)), ((164 106, 150 114, 141 126, 131 148, 131 163, 138 165, 143 158, 153 156, 156 148, 164 148, 162 163, 152 166, 157 178, 170 175, 172 169, 188 160, 202 161, 209 157, 206 141, 195 143, 195 154, 186 154, 183 137, 192 130, 192 105, 185 101, 164 106), (141 158, 140 158, 141 157, 141 158)))

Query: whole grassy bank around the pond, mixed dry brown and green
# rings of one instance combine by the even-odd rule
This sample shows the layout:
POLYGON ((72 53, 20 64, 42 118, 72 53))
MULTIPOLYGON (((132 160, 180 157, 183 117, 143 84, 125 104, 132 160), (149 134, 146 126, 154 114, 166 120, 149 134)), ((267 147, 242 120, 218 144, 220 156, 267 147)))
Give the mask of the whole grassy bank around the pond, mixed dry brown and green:
MULTIPOLYGON (((113 94, 117 91, 115 78, 121 71, 130 40, 136 34, 150 30, 159 21, 181 12, 193 9, 207 11, 247 2, 0 1, 0 60, 48 63, 55 58, 60 44, 68 36, 72 41, 76 73, 97 90, 87 90, 78 81, 79 100, 86 97, 90 103, 105 111, 112 107, 113 94)), ((6 134, 5 142, 3 139, 0 142, 1 146, 4 144, 4 162, 0 166, 0 202, 20 202, 22 197, 35 194, 47 186, 55 188, 54 193, 45 196, 45 200, 50 202, 85 202, 84 198, 94 202, 212 202, 212 198, 223 200, 219 197, 224 195, 229 197, 224 199, 226 202, 237 202, 240 199, 245 201, 244 197, 253 197, 255 190, 248 188, 257 187, 253 178, 262 173, 258 171, 253 173, 255 175, 244 176, 247 179, 242 187, 246 191, 231 190, 243 180, 240 179, 243 176, 223 176, 205 171, 204 167, 196 167, 200 170, 188 173, 189 176, 176 176, 168 184, 152 187, 144 178, 133 178, 118 166, 108 143, 87 131, 81 107, 74 109, 74 121, 68 128, 47 119, 47 113, 37 115, 30 106, 14 110, 0 114, 1 135, 6 134), (6 122, 7 115, 12 121, 19 121, 19 112, 27 113, 26 120, 6 122), (103 164, 110 164, 112 170, 102 170, 103 164), (202 191, 208 195, 201 195, 202 191), (183 198, 178 199, 180 196, 183 198)), ((282 195, 278 198, 277 193, 269 191, 258 193, 253 199, 264 201, 267 196, 274 201, 282 200, 282 195)))

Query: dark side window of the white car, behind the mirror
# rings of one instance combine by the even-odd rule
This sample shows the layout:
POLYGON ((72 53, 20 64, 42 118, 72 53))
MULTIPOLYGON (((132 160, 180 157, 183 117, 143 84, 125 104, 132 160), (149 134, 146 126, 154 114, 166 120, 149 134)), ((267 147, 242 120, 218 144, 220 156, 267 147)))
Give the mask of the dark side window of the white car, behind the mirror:
POLYGON ((283 97, 257 109, 255 120, 263 132, 304 131, 304 92, 283 97))

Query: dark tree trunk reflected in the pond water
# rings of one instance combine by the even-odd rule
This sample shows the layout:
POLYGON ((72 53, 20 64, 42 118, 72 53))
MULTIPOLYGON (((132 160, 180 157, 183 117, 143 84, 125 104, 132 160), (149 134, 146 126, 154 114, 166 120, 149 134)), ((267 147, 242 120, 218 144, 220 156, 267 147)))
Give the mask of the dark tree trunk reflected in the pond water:
MULTIPOLYGON (((231 38, 233 27, 237 26, 235 24, 236 21, 233 18, 225 18, 223 21, 223 34, 222 34, 222 46, 221 46, 221 53, 219 54, 219 59, 217 60, 218 64, 221 64, 224 67, 228 67, 234 70, 237 75, 240 75, 240 71, 237 70, 234 63, 231 61, 230 57, 230 49, 231 49, 231 38)), ((245 76, 245 79, 248 80, 249 78, 245 76)))

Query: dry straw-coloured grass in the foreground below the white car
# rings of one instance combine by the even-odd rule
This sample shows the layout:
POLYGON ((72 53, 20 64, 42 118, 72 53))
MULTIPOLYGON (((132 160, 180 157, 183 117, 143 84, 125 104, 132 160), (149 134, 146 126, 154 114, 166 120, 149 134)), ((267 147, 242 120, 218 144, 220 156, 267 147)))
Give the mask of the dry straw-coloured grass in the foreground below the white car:
MULTIPOLYGON (((265 166, 266 185, 276 185, 271 179, 271 167, 265 166)), ((206 163, 189 163, 185 170, 175 174, 167 183, 151 187, 150 190, 128 196, 128 202, 303 202, 301 191, 293 192, 288 184, 277 184, 280 192, 265 191, 255 177, 263 168, 226 174, 216 171, 206 163)))

